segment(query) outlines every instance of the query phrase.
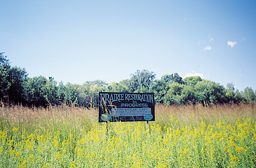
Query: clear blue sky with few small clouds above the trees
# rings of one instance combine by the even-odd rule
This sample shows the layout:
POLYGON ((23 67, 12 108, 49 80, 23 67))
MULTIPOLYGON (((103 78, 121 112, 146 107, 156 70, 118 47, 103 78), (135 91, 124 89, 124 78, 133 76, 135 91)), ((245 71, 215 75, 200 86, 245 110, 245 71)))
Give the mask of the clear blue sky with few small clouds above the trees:
POLYGON ((29 77, 77 83, 137 69, 256 89, 255 1, 0 2, 0 52, 29 77))

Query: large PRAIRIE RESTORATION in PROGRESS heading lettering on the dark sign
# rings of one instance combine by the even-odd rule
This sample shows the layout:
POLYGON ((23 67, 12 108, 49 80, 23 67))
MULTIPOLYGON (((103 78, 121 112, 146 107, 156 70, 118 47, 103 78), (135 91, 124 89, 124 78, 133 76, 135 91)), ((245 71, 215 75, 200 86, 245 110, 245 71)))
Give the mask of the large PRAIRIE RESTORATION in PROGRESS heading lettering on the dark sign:
MULTIPOLYGON (((112 102, 115 102, 115 101, 121 102, 123 100, 128 100, 128 101, 133 100, 133 101, 141 101, 141 102, 143 101, 148 103, 154 103, 153 94, 100 93, 100 100, 101 100, 100 101, 101 106, 103 104, 103 101, 106 104, 111 104, 112 102)), ((138 104, 139 105, 136 106, 136 103, 135 103, 135 107, 147 107, 146 106, 147 103, 138 103, 138 104)), ((128 107, 134 107, 134 106, 128 105, 128 107)))

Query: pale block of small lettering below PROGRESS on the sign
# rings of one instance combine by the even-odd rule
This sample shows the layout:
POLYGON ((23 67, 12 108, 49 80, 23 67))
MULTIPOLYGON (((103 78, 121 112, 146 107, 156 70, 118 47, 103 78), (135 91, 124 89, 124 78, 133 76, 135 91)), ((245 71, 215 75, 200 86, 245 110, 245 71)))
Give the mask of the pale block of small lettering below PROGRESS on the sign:
POLYGON ((111 109, 112 117, 145 116, 146 114, 151 114, 151 108, 113 108, 111 109))

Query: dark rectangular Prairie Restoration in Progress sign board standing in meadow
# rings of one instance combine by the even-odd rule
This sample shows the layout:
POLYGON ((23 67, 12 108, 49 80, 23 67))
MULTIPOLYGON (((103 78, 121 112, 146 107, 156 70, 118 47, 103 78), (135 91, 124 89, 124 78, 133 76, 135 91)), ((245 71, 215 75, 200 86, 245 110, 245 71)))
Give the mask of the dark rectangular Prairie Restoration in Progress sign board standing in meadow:
POLYGON ((99 122, 155 121, 154 93, 99 93, 99 122))

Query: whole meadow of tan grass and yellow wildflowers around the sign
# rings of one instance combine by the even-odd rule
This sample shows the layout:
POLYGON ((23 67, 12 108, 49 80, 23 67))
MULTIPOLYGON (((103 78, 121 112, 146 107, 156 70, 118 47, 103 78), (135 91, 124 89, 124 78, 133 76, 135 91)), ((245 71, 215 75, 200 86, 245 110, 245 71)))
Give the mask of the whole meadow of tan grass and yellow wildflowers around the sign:
POLYGON ((256 167, 254 104, 155 107, 98 123, 97 108, 0 107, 0 167, 256 167))

